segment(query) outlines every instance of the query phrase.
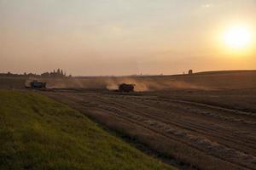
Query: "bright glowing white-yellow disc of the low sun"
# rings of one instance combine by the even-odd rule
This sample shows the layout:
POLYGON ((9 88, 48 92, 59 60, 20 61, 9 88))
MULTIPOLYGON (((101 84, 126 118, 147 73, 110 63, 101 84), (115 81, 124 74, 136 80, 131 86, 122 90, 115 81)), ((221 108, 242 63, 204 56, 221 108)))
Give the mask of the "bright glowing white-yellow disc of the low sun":
POLYGON ((234 26, 224 33, 223 38, 228 48, 239 50, 250 45, 252 33, 246 26, 234 26))

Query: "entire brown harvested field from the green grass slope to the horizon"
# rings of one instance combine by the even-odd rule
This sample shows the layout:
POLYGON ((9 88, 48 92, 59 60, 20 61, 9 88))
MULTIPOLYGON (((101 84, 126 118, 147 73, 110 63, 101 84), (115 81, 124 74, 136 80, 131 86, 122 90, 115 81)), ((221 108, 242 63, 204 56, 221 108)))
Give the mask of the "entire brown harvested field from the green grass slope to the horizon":
MULTIPOLYGON (((48 95, 184 169, 256 169, 256 71, 42 78, 48 95), (135 93, 109 91, 135 83, 135 93)), ((1 77, 0 88, 25 79, 1 77)))

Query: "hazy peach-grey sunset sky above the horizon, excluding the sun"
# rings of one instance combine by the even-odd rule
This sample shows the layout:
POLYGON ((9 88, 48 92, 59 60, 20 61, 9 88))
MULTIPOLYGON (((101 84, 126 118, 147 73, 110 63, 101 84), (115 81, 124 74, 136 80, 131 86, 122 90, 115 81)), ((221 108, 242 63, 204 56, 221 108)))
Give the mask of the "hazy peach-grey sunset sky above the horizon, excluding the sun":
POLYGON ((220 41, 237 24, 256 47, 255 0, 0 0, 0 72, 256 69, 256 48, 230 53, 220 41))

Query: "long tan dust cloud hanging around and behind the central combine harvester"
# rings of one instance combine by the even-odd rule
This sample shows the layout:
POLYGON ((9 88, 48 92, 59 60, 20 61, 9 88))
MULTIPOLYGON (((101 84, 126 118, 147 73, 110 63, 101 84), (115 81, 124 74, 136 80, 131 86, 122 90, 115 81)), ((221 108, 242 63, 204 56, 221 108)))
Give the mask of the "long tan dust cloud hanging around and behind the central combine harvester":
POLYGON ((47 88, 107 88, 116 90, 119 84, 135 84, 135 91, 160 91, 172 88, 205 89, 189 82, 159 77, 73 77, 66 79, 46 78, 47 88))

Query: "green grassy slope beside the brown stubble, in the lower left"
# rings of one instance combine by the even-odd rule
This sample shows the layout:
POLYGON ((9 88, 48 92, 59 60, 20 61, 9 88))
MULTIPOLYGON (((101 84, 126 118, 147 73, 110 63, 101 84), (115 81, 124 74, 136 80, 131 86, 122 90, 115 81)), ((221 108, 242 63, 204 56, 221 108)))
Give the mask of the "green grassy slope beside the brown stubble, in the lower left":
POLYGON ((174 169, 48 97, 0 90, 0 169, 174 169))

